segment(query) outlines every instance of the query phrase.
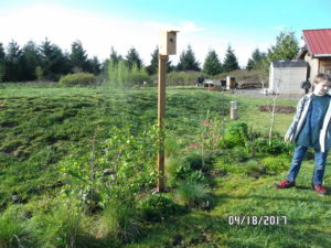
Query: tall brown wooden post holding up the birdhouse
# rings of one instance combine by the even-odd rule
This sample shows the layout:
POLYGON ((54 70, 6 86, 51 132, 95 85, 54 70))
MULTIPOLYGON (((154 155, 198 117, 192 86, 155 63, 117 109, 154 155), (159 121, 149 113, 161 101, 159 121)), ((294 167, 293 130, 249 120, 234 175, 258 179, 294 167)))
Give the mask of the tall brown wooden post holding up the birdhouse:
MULTIPOLYGON (((159 54, 159 98, 158 98, 158 126, 163 132, 163 118, 166 112, 166 73, 168 55, 159 54)), ((164 140, 163 137, 159 140, 158 152, 158 192, 164 191, 164 140)))

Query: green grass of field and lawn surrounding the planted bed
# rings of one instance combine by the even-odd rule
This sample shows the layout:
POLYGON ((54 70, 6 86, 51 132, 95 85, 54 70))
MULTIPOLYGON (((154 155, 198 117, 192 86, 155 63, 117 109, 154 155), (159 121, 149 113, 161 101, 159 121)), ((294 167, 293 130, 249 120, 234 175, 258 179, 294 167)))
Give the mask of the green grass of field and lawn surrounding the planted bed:
MULTIPOLYGON (((268 132, 270 114, 258 110, 258 106, 270 103, 268 98, 168 88, 167 134, 174 137, 184 151, 196 140, 201 122, 209 116, 225 114, 225 125, 228 125, 231 100, 238 101, 239 120, 246 121, 254 131, 268 132)), ((277 103, 296 105, 295 100, 287 99, 277 103)), ((129 125, 132 133, 143 130, 156 122, 156 88, 1 85, 1 213, 13 205, 13 195, 22 200, 17 204, 19 207, 31 212, 34 207, 42 208, 36 206, 45 201, 52 202, 62 188, 60 164, 65 158, 73 152, 86 154, 100 149, 111 127, 120 129, 129 125)), ((277 114, 275 132, 284 133, 291 119, 292 114, 277 114)), ((328 206, 331 200, 309 190, 312 169, 313 161, 306 161, 298 186, 286 191, 275 190, 275 184, 286 175, 284 170, 255 177, 239 172, 218 173, 213 179, 215 203, 212 209, 193 208, 186 214, 145 225, 145 235, 122 246, 330 247, 328 206), (247 225, 246 222, 231 225, 228 216, 279 216, 279 225, 247 225), (287 224, 281 216, 286 216, 287 224)), ((220 172, 217 163, 213 170, 220 172)), ((331 185, 328 170, 324 184, 331 185)), ((172 196, 172 192, 166 195, 172 196)), ((93 218, 88 222, 93 223, 93 218)))

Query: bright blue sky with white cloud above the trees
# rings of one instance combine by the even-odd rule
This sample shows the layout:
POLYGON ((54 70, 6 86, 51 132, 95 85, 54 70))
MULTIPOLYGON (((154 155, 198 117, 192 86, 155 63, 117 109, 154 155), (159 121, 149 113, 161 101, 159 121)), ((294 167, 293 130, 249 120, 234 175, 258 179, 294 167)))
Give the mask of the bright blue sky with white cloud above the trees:
POLYGON ((179 61, 190 44, 203 64, 210 50, 221 61, 228 45, 246 66, 255 48, 267 51, 281 31, 330 29, 330 0, 0 0, 0 43, 23 46, 46 37, 63 51, 79 40, 89 57, 121 55, 135 47, 145 65, 159 44, 160 31, 180 31, 179 61))

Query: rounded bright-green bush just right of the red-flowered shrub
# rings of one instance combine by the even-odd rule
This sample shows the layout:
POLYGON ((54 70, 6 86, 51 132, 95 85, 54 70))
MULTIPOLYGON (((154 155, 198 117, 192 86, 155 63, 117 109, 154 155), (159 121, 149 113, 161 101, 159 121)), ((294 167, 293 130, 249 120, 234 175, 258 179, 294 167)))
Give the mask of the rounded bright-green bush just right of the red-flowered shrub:
POLYGON ((244 147, 248 138, 248 126, 243 121, 234 121, 225 130, 224 142, 227 148, 244 147))

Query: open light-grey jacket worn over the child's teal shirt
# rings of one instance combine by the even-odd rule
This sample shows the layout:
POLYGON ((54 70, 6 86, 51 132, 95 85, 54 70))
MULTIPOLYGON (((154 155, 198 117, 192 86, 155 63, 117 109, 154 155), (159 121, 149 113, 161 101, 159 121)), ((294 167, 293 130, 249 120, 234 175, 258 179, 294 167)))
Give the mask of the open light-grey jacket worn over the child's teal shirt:
MULTIPOLYGON (((312 94, 310 93, 303 96, 297 105, 297 112, 293 117, 293 121, 286 132, 290 141, 295 141, 297 139, 298 134, 300 133, 303 127, 305 120, 307 118, 307 112, 311 104, 311 95, 312 94)), ((331 104, 329 104, 328 110, 324 116, 323 126, 320 131, 321 152, 325 152, 331 149, 331 125, 329 125, 330 120, 331 120, 331 104)))

